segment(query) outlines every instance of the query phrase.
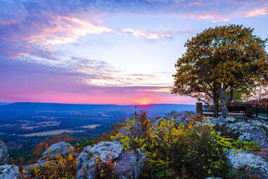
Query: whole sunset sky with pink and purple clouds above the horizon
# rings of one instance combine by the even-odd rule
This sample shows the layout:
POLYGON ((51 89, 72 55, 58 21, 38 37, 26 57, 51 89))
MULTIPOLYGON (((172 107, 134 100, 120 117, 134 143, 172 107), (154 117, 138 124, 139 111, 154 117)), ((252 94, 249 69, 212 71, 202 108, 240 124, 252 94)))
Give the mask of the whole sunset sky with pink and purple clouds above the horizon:
POLYGON ((195 104, 174 63, 228 24, 267 38, 268 0, 0 0, 0 102, 195 104))

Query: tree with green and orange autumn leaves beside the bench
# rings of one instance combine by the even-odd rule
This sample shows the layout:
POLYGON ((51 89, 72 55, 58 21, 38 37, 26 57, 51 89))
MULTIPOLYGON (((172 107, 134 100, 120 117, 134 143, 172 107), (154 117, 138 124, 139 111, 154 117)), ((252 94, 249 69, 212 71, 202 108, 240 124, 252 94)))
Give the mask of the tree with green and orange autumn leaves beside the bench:
POLYGON ((204 30, 187 40, 186 53, 175 64, 172 94, 200 101, 210 97, 215 112, 220 99, 222 115, 229 116, 228 96, 232 99, 234 93, 250 94, 257 82, 268 79, 266 42, 243 25, 204 30))

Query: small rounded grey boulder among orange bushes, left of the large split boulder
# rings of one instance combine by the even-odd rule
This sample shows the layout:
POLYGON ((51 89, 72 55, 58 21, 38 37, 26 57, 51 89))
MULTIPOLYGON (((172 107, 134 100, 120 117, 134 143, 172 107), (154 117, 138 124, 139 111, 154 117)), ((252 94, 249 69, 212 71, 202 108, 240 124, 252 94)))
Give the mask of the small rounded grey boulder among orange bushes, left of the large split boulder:
POLYGON ((50 157, 50 159, 55 159, 55 156, 58 155, 58 153, 61 156, 65 156, 70 153, 70 150, 72 148, 72 145, 67 142, 58 142, 56 144, 52 144, 46 151, 42 154, 41 159, 39 159, 39 162, 42 163, 46 160, 47 157, 50 157))

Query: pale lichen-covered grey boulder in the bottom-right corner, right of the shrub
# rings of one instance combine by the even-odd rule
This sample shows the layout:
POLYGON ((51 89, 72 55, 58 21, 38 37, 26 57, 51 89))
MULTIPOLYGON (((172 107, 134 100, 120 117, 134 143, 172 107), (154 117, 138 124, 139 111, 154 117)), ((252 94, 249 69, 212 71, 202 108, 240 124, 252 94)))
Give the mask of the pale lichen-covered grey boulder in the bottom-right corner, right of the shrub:
POLYGON ((233 168, 250 167, 256 170, 260 178, 268 178, 268 159, 262 158, 254 152, 234 152, 232 149, 225 152, 225 156, 227 162, 230 163, 233 168))

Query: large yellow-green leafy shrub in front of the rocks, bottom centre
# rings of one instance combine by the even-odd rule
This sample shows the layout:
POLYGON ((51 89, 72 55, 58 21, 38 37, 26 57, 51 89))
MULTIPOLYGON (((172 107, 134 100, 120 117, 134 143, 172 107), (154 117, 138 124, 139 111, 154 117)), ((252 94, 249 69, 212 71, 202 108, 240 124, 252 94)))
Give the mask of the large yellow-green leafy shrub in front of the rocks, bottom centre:
POLYGON ((146 152, 147 176, 155 178, 205 178, 229 170, 222 144, 209 125, 178 125, 162 121, 146 139, 136 139, 146 152))

